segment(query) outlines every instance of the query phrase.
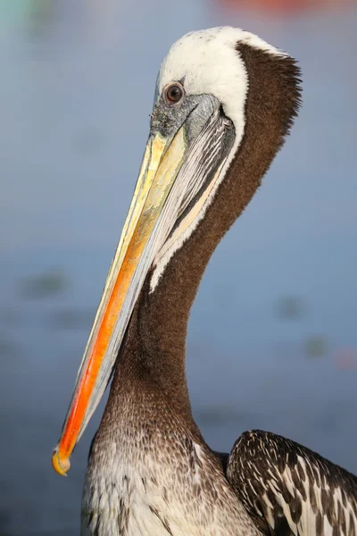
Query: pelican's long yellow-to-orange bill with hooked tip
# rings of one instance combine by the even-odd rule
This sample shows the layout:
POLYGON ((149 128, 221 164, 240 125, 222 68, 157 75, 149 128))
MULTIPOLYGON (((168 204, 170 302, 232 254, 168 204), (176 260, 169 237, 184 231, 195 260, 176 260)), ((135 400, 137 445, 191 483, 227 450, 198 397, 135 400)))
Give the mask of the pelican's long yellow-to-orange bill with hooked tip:
POLYGON ((87 348, 79 367, 62 436, 52 462, 57 473, 70 469, 70 456, 111 378, 120 342, 153 262, 150 239, 187 149, 185 128, 173 138, 150 137, 120 243, 112 261, 87 348))

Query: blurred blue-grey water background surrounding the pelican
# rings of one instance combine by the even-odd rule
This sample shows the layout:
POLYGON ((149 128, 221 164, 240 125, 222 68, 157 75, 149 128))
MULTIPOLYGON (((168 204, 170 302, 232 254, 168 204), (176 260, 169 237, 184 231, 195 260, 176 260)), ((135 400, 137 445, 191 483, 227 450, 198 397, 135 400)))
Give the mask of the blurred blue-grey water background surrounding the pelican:
POLYGON ((170 44, 249 29, 303 109, 213 255, 187 375, 212 448, 275 431, 357 473, 357 9, 342 0, 0 0, 0 535, 79 533, 89 442, 51 467, 170 44))

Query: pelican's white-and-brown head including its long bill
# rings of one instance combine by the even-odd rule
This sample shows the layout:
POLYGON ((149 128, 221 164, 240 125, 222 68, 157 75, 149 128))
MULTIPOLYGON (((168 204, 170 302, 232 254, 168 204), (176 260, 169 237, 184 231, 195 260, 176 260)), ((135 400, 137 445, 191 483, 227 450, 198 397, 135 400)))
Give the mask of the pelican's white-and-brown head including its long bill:
POLYGON ((297 76, 292 58, 241 29, 195 31, 171 46, 129 214, 54 451, 58 473, 69 470, 111 379, 145 281, 154 293, 224 182, 240 180, 243 188, 237 196, 229 190, 224 231, 245 208, 295 117, 297 76))

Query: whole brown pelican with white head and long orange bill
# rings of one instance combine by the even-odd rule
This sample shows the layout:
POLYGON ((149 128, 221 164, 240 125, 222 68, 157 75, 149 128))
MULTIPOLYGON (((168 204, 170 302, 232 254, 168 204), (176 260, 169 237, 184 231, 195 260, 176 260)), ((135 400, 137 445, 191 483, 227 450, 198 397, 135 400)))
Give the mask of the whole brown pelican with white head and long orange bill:
POLYGON ((241 29, 190 33, 162 63, 137 187, 54 451, 65 474, 113 373, 83 536, 357 534, 352 474, 264 431, 213 452, 187 392, 187 320, 205 266, 299 103, 295 60, 241 29))

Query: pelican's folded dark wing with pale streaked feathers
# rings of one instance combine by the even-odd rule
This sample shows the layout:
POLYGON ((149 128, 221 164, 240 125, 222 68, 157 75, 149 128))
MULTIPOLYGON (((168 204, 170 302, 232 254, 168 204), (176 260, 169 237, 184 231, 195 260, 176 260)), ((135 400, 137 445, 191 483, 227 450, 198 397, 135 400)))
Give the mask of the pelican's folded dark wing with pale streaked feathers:
POLYGON ((294 441, 245 431, 226 471, 263 534, 357 536, 357 478, 294 441))

